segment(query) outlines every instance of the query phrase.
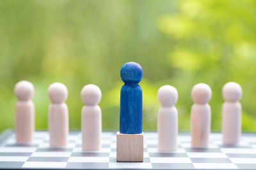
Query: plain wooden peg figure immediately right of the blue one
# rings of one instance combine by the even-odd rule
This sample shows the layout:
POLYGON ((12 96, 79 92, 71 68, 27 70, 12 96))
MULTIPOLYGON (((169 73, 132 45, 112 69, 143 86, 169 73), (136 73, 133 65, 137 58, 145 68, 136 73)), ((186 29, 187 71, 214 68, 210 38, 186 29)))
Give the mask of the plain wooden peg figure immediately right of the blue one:
POLYGON ((174 104, 178 100, 175 87, 164 85, 157 92, 161 108, 157 115, 158 150, 177 150, 178 111, 174 104))

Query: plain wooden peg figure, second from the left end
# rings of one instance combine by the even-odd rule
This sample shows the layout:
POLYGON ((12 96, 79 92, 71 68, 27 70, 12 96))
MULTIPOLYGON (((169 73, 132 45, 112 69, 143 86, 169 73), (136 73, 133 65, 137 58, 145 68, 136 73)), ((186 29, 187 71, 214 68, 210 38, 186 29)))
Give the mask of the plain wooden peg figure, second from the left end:
POLYGON ((52 83, 48 88, 51 100, 48 111, 48 128, 51 146, 66 146, 68 141, 68 107, 65 101, 68 90, 62 83, 52 83))

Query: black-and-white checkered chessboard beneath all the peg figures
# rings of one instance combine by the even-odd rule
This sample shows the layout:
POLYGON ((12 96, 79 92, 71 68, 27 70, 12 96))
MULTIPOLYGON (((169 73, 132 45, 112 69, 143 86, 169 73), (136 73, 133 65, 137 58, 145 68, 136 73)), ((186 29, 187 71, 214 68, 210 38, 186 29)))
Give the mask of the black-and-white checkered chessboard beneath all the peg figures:
POLYGON ((68 146, 51 148, 49 134, 35 133, 31 145, 15 143, 13 131, 0 137, 1 169, 256 169, 256 134, 243 134, 236 148, 221 145, 221 134, 212 133, 207 149, 193 149, 190 135, 179 134, 176 152, 158 152, 157 133, 144 132, 144 161, 116 162, 116 134, 102 133, 99 152, 83 152, 81 133, 70 132, 68 146))

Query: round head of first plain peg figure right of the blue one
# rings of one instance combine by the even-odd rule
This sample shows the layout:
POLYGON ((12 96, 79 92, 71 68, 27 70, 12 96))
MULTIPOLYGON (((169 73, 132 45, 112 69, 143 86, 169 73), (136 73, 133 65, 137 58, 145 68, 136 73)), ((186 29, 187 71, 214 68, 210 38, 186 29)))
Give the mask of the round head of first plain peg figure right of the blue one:
POLYGON ((157 97, 161 106, 172 107, 177 103, 178 92, 175 87, 172 87, 171 85, 164 85, 158 90, 157 97))

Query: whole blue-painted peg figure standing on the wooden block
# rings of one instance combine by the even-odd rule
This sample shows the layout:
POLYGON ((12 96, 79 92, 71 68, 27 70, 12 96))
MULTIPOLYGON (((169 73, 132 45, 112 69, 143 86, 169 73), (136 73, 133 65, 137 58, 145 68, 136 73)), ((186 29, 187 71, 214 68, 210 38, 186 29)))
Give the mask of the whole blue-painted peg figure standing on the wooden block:
POLYGON ((143 70, 140 64, 127 62, 120 74, 125 83, 120 96, 120 133, 141 134, 142 90, 138 83, 143 76, 143 70))

